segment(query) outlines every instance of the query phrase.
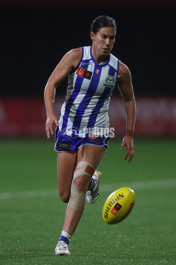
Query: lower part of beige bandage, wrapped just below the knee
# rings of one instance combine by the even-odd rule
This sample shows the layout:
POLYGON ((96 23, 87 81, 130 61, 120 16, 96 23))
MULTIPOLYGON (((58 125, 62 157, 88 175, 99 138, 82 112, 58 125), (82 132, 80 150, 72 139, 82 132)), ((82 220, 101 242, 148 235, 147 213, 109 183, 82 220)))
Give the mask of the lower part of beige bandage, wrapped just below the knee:
POLYGON ((67 207, 84 212, 86 205, 86 195, 84 192, 78 190, 74 184, 71 186, 71 196, 67 207))

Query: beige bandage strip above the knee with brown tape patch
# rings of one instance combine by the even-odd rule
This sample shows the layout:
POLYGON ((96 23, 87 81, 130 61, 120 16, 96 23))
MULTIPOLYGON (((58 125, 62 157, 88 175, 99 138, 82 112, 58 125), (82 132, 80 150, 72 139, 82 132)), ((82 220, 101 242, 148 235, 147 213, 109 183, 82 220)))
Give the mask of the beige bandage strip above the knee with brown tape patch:
POLYGON ((90 178, 92 178, 95 172, 95 168, 93 167, 93 165, 85 161, 79 161, 76 168, 79 169, 75 172, 73 176, 72 184, 74 183, 76 177, 80 175, 88 175, 90 178))

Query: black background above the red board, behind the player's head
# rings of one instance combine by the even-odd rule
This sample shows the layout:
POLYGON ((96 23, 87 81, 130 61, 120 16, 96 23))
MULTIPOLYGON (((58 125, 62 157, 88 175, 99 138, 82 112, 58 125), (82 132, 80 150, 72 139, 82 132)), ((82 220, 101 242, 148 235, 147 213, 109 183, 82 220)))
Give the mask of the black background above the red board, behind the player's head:
MULTIPOLYGON (((23 2, 0 3, 1 95, 43 96, 64 54, 92 45, 90 24, 102 14, 117 21, 111 53, 131 70, 135 94, 175 94, 174 2, 23 2)), ((67 80, 59 93, 65 94, 66 87, 67 80)))

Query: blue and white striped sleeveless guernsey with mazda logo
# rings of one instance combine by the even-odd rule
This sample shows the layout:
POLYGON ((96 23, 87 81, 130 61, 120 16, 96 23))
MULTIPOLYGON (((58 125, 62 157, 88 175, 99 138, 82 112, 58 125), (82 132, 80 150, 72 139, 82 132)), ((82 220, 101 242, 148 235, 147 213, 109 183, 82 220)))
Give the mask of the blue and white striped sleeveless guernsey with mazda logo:
MULTIPOLYGON (((109 128, 108 107, 116 86, 119 59, 109 54, 104 64, 92 56, 92 47, 82 47, 82 58, 74 72, 69 73, 67 96, 61 108, 59 130, 109 128)), ((72 133, 72 136, 74 132, 72 133)))

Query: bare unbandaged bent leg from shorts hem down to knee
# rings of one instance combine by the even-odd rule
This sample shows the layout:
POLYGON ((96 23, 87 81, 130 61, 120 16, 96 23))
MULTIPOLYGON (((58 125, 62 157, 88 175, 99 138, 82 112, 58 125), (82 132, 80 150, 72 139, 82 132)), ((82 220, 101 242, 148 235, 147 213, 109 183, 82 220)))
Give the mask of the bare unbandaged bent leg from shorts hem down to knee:
POLYGON ((59 195, 63 202, 70 199, 73 173, 77 165, 78 152, 57 153, 57 179, 59 195))

